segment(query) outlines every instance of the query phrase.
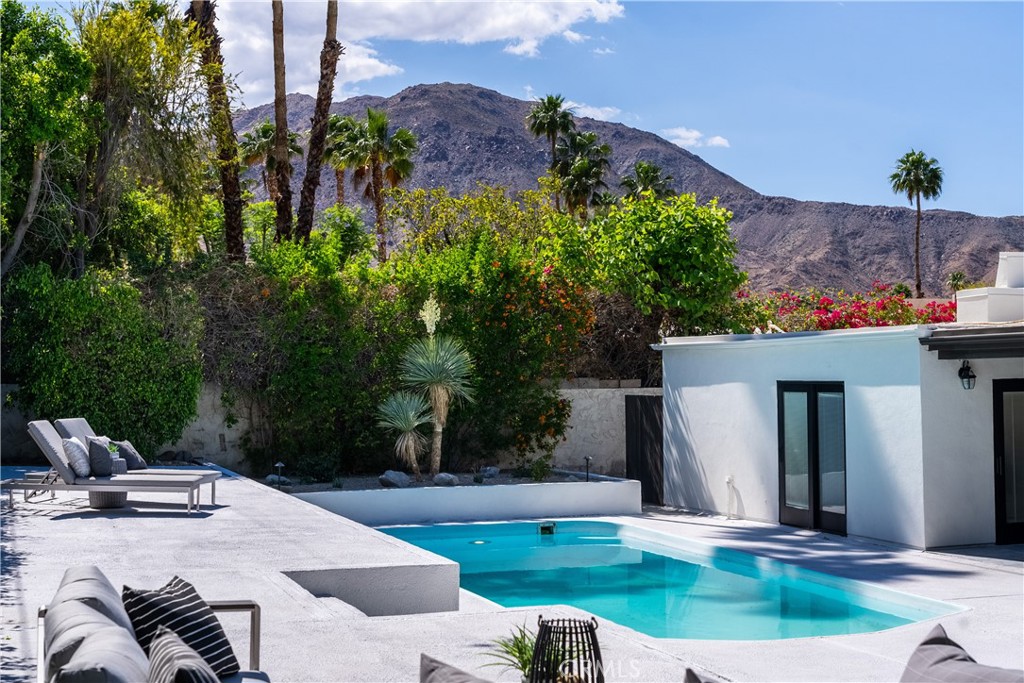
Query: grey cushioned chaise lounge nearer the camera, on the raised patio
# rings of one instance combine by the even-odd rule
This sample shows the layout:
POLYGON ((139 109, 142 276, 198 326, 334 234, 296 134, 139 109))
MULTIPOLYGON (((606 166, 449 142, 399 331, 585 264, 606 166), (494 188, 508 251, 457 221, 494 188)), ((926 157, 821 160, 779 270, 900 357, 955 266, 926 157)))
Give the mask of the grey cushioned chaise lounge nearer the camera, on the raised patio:
MULTIPOLYGON (((29 423, 29 435, 36 442, 43 455, 49 461, 50 466, 56 476, 50 477, 26 477, 25 479, 12 479, 3 482, 3 487, 9 492, 10 505, 14 505, 14 490, 25 492, 56 492, 56 490, 78 490, 90 494, 90 505, 93 507, 104 507, 94 504, 92 495, 116 494, 129 492, 148 493, 182 493, 187 494, 187 505, 185 510, 191 514, 193 508, 198 508, 199 489, 204 483, 213 486, 213 482, 220 476, 220 472, 196 472, 180 474, 113 474, 109 477, 80 477, 72 470, 63 452, 63 444, 60 434, 46 420, 36 420, 29 423)), ((139 470, 139 472, 144 470, 139 470)), ((27 496, 28 498, 28 496, 27 496)), ((216 501, 211 497, 211 502, 216 501)))

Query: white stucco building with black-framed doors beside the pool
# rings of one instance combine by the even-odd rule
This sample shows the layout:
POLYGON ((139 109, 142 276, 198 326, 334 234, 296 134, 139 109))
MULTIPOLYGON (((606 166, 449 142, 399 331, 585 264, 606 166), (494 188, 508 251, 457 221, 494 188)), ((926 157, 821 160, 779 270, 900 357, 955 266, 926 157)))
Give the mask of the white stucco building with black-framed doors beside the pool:
POLYGON ((1024 255, 1009 256, 1019 276, 1000 259, 988 288, 1002 321, 666 339, 665 503, 915 548, 1024 541, 1024 255))

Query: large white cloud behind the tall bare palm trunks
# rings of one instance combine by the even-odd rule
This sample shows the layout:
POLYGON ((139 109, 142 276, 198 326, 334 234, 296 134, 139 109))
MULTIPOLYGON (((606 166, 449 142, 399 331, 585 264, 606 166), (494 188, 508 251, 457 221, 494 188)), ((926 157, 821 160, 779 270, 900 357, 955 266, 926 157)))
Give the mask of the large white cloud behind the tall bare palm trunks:
MULTIPOLYGON (((247 103, 273 96, 273 46, 269 2, 221 0, 218 29, 224 39, 227 69, 239 75, 247 103)), ((465 0, 349 0, 340 2, 338 40, 345 56, 338 62, 337 90, 346 84, 401 72, 371 45, 375 39, 454 42, 464 45, 504 44, 508 54, 535 57, 546 40, 561 36, 580 42, 580 24, 604 24, 623 16, 621 0, 541 0, 534 2, 467 2, 465 0)), ((327 3, 285 3, 285 57, 289 92, 315 93, 327 3)))

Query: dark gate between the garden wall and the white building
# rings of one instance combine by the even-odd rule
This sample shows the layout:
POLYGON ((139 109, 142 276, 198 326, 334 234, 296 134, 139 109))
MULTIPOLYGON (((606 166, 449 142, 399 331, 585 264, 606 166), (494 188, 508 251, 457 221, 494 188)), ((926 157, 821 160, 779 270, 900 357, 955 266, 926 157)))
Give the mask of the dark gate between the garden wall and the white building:
POLYGON ((626 396, 626 476, 640 482, 644 503, 665 505, 662 397, 626 396))

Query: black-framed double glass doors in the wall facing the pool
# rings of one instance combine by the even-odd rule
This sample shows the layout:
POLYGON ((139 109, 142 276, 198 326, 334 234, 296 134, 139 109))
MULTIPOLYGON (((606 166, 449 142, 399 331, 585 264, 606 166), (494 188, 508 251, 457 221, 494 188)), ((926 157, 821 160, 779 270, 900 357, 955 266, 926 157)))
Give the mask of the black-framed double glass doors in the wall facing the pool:
POLYGON ((779 521, 846 533, 842 382, 778 383, 779 521))

